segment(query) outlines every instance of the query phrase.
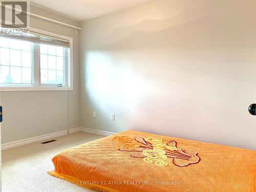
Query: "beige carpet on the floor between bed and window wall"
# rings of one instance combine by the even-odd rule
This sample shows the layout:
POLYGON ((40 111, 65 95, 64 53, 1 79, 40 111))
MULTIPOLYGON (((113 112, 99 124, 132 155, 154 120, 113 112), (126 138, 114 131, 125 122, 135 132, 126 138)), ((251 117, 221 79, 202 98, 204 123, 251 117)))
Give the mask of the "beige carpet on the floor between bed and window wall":
POLYGON ((2 152, 3 192, 84 192, 92 191, 47 174, 53 170, 51 159, 58 152, 102 136, 74 133, 57 141, 32 143, 2 152))

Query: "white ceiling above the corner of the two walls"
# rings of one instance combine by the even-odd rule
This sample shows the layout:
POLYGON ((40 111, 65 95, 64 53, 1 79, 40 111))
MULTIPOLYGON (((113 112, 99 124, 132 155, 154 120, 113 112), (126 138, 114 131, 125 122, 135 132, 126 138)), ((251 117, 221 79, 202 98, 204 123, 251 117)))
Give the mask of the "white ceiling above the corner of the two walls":
POLYGON ((71 16, 87 20, 154 0, 30 0, 30 2, 71 16))

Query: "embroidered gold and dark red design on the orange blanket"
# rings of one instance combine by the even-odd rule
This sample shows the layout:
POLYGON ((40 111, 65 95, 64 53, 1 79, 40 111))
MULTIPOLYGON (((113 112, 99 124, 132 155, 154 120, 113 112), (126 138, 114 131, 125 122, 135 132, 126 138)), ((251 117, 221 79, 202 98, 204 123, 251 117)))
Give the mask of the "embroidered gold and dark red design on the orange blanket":
POLYGON ((197 152, 185 151, 178 148, 176 141, 169 141, 165 144, 161 138, 144 139, 142 137, 136 137, 133 140, 126 136, 115 137, 113 140, 119 143, 119 151, 136 152, 131 157, 143 158, 144 162, 154 162, 157 166, 167 166, 168 162, 166 160, 168 158, 173 158, 173 163, 180 167, 200 161, 197 152))

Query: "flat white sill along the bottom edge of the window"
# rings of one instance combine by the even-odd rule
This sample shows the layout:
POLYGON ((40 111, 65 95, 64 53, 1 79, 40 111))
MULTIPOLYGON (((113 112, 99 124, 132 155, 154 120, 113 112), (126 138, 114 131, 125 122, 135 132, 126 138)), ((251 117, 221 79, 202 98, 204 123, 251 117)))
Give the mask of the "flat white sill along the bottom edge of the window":
POLYGON ((73 91, 73 87, 0 87, 0 92, 8 91, 73 91))

